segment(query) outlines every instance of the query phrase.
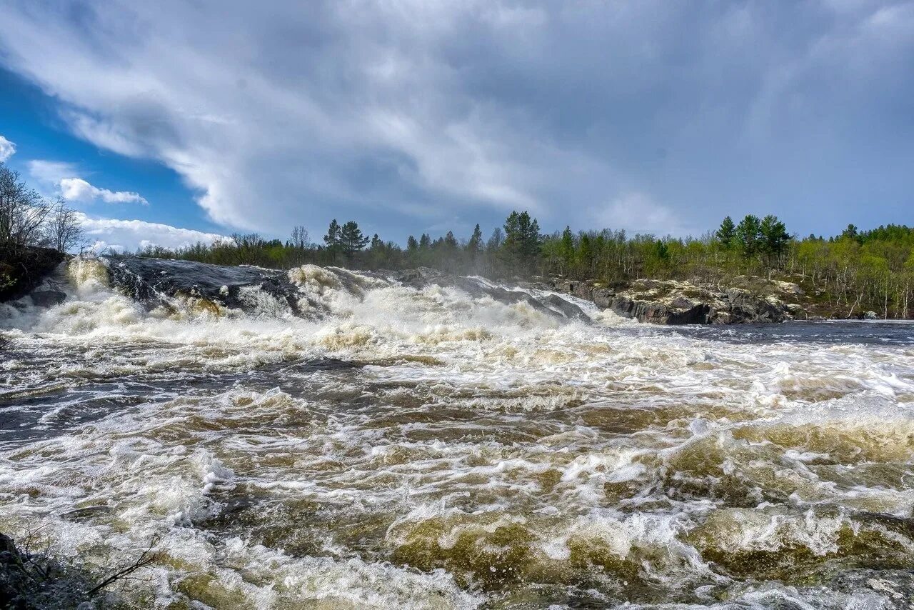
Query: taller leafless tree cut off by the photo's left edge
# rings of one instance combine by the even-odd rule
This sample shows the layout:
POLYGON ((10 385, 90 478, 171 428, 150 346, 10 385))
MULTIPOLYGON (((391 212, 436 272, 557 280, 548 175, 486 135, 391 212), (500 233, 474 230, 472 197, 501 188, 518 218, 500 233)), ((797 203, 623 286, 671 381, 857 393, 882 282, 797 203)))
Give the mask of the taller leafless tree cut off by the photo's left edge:
POLYGON ((27 187, 18 172, 0 163, 0 249, 18 252, 38 245, 50 211, 50 204, 27 187))

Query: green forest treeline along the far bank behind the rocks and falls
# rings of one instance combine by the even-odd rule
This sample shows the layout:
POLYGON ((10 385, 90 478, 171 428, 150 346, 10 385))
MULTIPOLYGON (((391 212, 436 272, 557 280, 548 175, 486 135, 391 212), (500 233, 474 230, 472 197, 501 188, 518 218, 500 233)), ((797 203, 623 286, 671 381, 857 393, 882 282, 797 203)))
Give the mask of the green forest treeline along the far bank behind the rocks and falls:
POLYGON ((828 239, 800 239, 772 215, 748 215, 739 223, 728 217, 699 238, 674 238, 570 227, 544 235, 537 219, 515 211, 487 239, 477 224, 462 237, 452 231, 434 239, 428 233, 410 235, 406 247, 363 234, 354 220, 333 220, 319 243, 296 227, 286 241, 237 234, 178 251, 151 247, 138 253, 277 268, 303 263, 369 271, 429 266, 493 279, 555 274, 607 285, 657 278, 726 286, 738 276, 760 276, 801 284, 833 316, 875 310, 885 317, 909 318, 914 306, 914 229, 889 225, 860 231, 851 225, 828 239))

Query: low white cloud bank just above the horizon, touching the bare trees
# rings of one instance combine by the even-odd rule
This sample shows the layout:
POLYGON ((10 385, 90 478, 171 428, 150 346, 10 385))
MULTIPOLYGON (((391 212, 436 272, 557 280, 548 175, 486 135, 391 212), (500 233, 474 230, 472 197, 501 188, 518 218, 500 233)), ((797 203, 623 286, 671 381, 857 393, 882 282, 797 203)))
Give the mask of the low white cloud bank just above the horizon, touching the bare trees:
POLYGON ((198 241, 213 243, 228 240, 218 233, 181 229, 158 222, 91 218, 81 212, 78 216, 82 230, 87 240, 92 243, 91 249, 94 251, 106 248, 114 251, 135 251, 149 245, 175 249, 194 245, 198 241))

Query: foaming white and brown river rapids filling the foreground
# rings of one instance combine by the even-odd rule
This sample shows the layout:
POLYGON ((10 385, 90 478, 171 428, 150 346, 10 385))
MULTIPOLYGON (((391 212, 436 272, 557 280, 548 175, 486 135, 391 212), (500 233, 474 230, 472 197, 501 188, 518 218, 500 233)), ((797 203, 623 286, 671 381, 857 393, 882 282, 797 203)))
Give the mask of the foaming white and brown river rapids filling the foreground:
POLYGON ((914 327, 287 279, 0 305, 0 531, 139 608, 909 607, 914 327))

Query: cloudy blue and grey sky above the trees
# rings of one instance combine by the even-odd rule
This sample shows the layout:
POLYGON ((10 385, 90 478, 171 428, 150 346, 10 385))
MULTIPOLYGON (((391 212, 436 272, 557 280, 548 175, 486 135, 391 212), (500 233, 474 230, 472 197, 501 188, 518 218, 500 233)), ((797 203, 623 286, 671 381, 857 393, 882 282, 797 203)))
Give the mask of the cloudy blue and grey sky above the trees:
POLYGON ((0 161, 129 249, 910 225, 914 0, 6 0, 0 161))

